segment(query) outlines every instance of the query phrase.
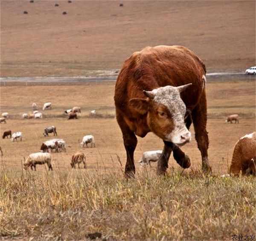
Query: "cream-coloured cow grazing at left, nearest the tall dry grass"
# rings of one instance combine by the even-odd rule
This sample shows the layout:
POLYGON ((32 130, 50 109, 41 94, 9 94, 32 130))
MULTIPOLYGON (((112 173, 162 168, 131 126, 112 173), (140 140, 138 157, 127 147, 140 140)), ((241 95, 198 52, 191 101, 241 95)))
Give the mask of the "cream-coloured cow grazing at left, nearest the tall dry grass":
MULTIPOLYGON (((29 168, 29 166, 31 167, 31 169, 33 170, 32 167, 34 167, 36 164, 47 164, 49 171, 52 170, 52 165, 51 165, 51 154, 49 153, 42 153, 42 152, 36 152, 36 153, 32 153, 30 154, 25 163, 23 164, 24 169, 27 170, 29 168)), ((35 169, 36 171, 36 169, 35 169)))

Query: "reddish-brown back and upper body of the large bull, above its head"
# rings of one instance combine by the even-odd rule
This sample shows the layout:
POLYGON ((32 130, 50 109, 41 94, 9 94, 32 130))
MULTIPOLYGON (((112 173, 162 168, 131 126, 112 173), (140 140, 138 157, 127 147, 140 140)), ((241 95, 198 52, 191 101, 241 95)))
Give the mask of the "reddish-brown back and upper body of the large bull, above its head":
POLYGON ((132 54, 122 66, 116 81, 116 108, 125 111, 131 98, 145 98, 143 90, 189 83, 192 86, 181 98, 186 106, 194 106, 204 89, 205 74, 201 59, 186 47, 146 47, 132 54))

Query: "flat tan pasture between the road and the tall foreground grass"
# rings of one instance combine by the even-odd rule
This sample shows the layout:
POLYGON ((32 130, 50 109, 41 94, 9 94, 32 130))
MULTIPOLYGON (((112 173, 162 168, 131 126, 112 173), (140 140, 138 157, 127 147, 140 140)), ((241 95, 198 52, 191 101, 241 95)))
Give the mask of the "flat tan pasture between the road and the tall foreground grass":
MULTIPOLYGON (((58 138, 63 138, 67 144, 67 152, 52 153, 53 170, 61 172, 71 170, 71 156, 76 151, 87 155, 87 169, 91 172, 120 171, 118 157, 125 165, 125 149, 122 144, 122 134, 114 118, 113 103, 114 83, 90 83, 82 85, 45 85, 45 86, 6 86, 0 87, 1 112, 8 111, 10 118, 7 124, 0 125, 3 131, 22 131, 22 142, 11 142, 1 139, 3 149, 2 168, 21 173, 23 157, 32 152, 38 152, 40 145, 50 137, 44 137, 44 128, 55 125, 58 138), (19 93, 17 95, 17 93, 19 93), (32 113, 32 103, 36 102, 41 109, 44 102, 52 102, 52 110, 42 111, 43 119, 21 119, 23 113, 32 113), (64 110, 73 106, 81 107, 79 119, 67 120, 64 110), (90 110, 96 110, 98 116, 90 116, 90 110), (95 137, 96 148, 80 148, 79 142, 86 134, 95 137)), ((210 81, 207 84, 209 160, 214 174, 227 173, 227 165, 231 161, 233 146, 239 137, 255 131, 255 82, 254 81, 210 81), (226 124, 228 114, 238 113, 241 116, 239 124, 226 124)), ((39 109, 39 111, 41 111, 39 109)), ((201 168, 200 152, 194 138, 182 149, 192 161, 192 168, 201 168)), ((163 148, 162 140, 149 133, 145 138, 138 138, 135 151, 137 170, 141 170, 137 160, 144 151, 163 148)), ((155 163, 153 163, 154 171, 155 163)), ((169 172, 179 168, 171 156, 169 172)), ((150 168, 148 168, 149 170, 150 168)), ((44 168, 38 166, 38 173, 44 168)))

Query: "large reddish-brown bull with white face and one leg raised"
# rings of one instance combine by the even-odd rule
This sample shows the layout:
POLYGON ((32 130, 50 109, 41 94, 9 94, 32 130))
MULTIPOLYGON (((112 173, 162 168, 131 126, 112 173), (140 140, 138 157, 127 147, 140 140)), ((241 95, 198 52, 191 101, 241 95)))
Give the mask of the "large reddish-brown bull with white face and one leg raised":
POLYGON ((180 146, 190 141, 192 122, 202 169, 211 171, 205 75, 201 59, 183 46, 146 47, 125 60, 116 81, 114 100, 127 154, 127 177, 135 174, 135 135, 144 137, 151 131, 164 142, 157 174, 166 173, 172 151, 177 163, 188 168, 190 159, 180 146))

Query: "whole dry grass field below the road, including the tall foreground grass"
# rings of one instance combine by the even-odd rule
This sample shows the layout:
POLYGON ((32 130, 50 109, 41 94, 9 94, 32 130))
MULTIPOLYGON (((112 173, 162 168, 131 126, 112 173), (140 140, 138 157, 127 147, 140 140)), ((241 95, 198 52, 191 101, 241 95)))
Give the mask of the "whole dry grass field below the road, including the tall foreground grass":
MULTIPOLYGON (((0 236, 84 240, 99 232, 103 240, 230 240, 232 235, 255 235, 254 178, 220 177, 227 173, 237 139, 255 130, 255 82, 207 84, 211 176, 200 171, 193 138, 183 147, 192 160, 188 170, 182 171, 171 157, 169 175, 157 177, 156 163, 141 168, 136 162, 136 178, 125 180, 113 92, 113 82, 0 87, 1 112, 10 113, 7 124, 0 126, 1 135, 9 129, 23 132, 22 142, 0 141, 0 236), (52 110, 43 111, 43 119, 21 119, 22 113, 32 112, 32 102, 42 107, 47 101, 52 110), (63 111, 75 105, 81 106, 81 116, 67 120, 63 111), (97 117, 90 116, 93 109, 97 117), (239 113, 239 124, 225 124, 230 113, 239 113), (37 171, 23 171, 23 157, 51 138, 43 136, 49 125, 56 126, 67 152, 52 153, 52 172, 40 165, 37 171), (80 148, 85 134, 95 136, 96 148, 80 148), (87 169, 70 167, 72 154, 79 150, 91 151, 87 169)), ((143 151, 162 147, 153 134, 139 138, 135 160, 143 151)))

